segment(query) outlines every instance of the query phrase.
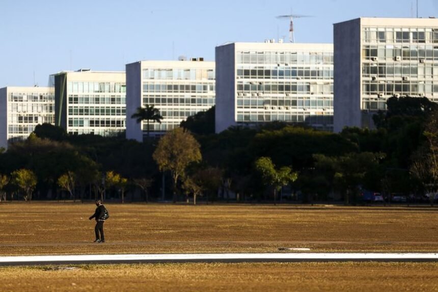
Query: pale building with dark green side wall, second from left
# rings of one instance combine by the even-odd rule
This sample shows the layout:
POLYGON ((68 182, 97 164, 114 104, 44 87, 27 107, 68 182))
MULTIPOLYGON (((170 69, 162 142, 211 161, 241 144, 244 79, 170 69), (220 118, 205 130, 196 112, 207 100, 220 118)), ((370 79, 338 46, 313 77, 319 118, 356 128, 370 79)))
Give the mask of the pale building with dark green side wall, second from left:
POLYGON ((51 75, 55 120, 69 134, 112 136, 125 130, 126 74, 78 70, 51 75))

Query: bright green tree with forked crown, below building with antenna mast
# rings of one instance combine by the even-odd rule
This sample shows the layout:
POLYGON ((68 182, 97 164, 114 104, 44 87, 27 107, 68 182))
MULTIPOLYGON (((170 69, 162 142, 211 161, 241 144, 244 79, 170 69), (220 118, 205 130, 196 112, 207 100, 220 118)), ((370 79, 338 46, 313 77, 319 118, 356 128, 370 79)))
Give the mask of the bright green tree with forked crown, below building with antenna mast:
POLYGON ((298 173, 293 172, 290 167, 284 166, 276 170, 269 157, 260 157, 255 163, 255 168, 261 174, 263 181, 274 188, 274 204, 277 203, 277 191, 281 191, 284 185, 298 178, 298 173))

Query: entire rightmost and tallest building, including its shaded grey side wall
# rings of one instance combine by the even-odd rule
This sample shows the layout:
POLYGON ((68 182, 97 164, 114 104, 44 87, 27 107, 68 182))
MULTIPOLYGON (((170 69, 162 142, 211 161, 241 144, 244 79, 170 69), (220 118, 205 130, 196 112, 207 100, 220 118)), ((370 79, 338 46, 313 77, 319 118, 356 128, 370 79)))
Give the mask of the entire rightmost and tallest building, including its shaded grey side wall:
POLYGON ((373 128, 391 96, 438 101, 438 19, 358 18, 334 25, 335 131, 373 128))

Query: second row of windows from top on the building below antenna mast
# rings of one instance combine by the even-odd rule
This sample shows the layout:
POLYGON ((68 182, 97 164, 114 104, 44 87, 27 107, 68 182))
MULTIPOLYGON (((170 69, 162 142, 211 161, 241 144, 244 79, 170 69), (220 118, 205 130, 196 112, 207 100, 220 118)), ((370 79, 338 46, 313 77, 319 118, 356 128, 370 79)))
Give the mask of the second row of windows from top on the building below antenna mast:
POLYGON ((277 67, 273 69, 237 69, 237 78, 257 78, 257 79, 331 79, 333 78, 332 68, 285 68, 277 67))

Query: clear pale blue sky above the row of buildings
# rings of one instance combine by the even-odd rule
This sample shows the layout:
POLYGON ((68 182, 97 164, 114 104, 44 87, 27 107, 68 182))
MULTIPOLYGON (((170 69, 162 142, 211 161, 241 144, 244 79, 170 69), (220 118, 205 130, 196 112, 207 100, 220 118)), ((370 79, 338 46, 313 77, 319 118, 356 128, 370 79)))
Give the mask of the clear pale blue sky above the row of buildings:
MULTIPOLYGON (((288 38, 333 42, 333 23, 358 17, 415 17, 416 0, 0 0, 0 87, 47 86, 62 70, 124 70, 139 60, 214 60, 226 42, 288 38)), ((438 16, 420 0, 419 16, 438 16)))

